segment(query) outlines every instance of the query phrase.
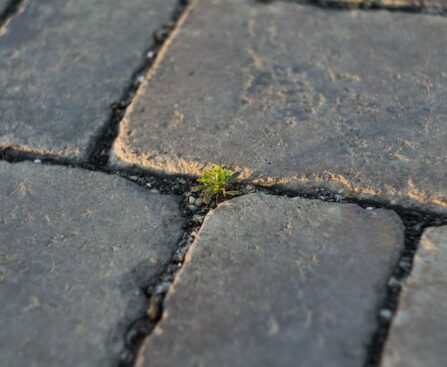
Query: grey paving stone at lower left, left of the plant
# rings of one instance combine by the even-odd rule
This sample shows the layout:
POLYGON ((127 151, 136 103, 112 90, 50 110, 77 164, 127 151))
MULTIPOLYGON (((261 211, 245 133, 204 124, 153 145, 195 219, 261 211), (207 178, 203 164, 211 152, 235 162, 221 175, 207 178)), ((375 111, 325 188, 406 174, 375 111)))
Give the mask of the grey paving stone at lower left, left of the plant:
POLYGON ((0 177, 0 365, 115 365, 181 236, 177 199, 65 167, 0 177))

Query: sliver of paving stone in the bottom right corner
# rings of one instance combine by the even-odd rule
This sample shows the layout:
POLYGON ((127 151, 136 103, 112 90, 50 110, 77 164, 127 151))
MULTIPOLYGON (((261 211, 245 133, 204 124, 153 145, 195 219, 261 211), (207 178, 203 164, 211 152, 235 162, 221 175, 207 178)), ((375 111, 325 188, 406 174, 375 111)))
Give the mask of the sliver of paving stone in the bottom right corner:
POLYGON ((385 346, 383 367, 447 366, 447 226, 427 229, 385 346))

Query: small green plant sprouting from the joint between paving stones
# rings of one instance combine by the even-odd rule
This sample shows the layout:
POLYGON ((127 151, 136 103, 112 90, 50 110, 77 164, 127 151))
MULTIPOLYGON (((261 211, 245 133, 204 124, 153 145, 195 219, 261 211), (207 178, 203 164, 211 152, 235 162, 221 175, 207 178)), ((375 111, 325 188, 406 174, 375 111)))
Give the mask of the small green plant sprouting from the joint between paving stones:
POLYGON ((202 185, 196 186, 196 190, 204 191, 203 201, 205 204, 209 204, 214 196, 218 201, 219 195, 225 197, 226 195, 237 195, 239 193, 239 191, 228 191, 228 188, 237 182, 236 175, 232 170, 221 166, 214 166, 212 169, 205 170, 202 177, 197 181, 202 185))

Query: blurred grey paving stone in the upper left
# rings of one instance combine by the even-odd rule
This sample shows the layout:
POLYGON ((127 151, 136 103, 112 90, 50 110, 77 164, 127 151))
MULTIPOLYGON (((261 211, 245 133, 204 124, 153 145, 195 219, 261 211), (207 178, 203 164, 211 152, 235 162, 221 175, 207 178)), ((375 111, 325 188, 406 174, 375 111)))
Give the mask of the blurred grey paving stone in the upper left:
POLYGON ((0 37, 0 149, 85 159, 177 3, 29 1, 0 37))

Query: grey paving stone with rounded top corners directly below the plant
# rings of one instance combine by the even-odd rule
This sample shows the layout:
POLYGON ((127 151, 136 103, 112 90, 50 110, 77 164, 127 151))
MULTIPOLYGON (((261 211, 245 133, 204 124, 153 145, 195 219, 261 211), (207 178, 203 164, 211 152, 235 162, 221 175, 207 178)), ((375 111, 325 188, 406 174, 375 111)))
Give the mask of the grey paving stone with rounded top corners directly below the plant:
POLYGON ((221 204, 137 366, 361 366, 402 245, 385 210, 265 194, 221 204))

